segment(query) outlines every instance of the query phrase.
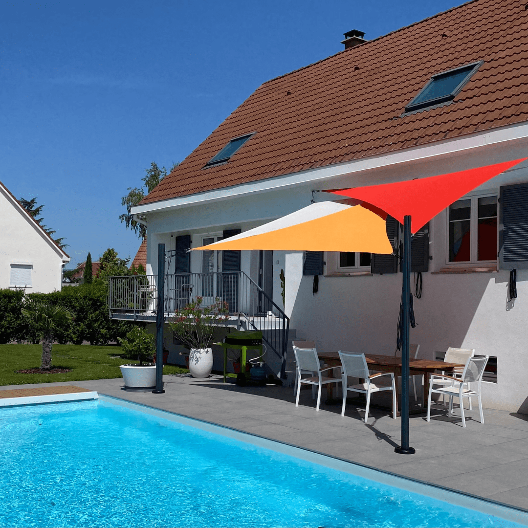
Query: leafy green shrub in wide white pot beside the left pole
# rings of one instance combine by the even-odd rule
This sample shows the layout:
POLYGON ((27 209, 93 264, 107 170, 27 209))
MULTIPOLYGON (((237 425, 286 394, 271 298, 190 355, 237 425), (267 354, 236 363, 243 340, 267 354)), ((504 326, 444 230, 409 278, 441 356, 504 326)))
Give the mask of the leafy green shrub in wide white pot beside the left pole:
POLYGON ((144 328, 135 326, 125 339, 118 338, 122 346, 122 357, 137 359, 139 363, 121 365, 125 386, 130 389, 152 389, 156 386, 156 365, 144 363, 156 353, 156 337, 144 328))

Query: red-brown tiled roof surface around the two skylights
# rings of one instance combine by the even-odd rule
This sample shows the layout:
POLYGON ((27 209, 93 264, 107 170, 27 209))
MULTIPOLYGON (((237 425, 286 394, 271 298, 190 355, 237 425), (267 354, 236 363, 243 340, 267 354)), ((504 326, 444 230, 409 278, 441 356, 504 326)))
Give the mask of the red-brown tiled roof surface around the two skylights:
POLYGON ((473 0, 262 84, 146 204, 528 120, 525 0, 473 0), (451 104, 403 115, 442 71, 483 60, 451 104), (255 132, 224 164, 231 139, 255 132))

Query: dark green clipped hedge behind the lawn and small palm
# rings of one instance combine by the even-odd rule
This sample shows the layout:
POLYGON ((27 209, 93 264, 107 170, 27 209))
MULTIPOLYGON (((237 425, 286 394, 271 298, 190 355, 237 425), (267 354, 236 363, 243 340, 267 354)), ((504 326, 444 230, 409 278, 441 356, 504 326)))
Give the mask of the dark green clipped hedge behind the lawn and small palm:
POLYGON ((126 321, 112 320, 107 305, 106 282, 96 280, 92 284, 65 286, 50 294, 24 294, 22 290, 0 289, 0 344, 39 343, 42 329, 28 322, 21 313, 24 307, 35 303, 60 304, 75 314, 72 322, 65 323, 54 332, 54 340, 61 345, 106 345, 125 337, 134 326, 126 321))

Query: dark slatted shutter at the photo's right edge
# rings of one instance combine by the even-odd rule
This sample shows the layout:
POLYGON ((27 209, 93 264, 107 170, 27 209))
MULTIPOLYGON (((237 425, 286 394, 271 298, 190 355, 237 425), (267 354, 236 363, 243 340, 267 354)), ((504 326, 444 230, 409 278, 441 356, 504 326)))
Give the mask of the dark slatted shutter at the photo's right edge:
POLYGON ((499 267, 528 268, 528 183, 501 187, 499 267))

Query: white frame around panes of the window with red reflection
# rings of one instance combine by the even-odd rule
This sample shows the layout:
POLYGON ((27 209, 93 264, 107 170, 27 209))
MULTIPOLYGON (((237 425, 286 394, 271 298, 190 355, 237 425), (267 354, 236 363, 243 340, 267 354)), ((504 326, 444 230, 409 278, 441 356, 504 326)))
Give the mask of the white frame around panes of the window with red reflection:
MULTIPOLYGON (((470 250, 469 250, 469 260, 463 262, 451 262, 449 261, 449 208, 450 205, 446 208, 446 267, 449 268, 491 268, 498 269, 498 255, 494 260, 477 260, 478 258, 478 199, 485 198, 488 196, 495 196, 497 198, 497 253, 498 253, 498 239, 499 239, 499 219, 500 219, 500 203, 499 203, 499 193, 498 190, 483 190, 478 193, 472 193, 470 195, 461 196, 459 200, 470 200, 470 250)), ((455 202, 453 202, 455 203, 455 202)))

